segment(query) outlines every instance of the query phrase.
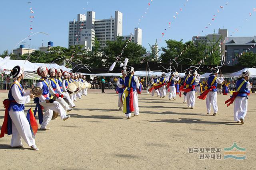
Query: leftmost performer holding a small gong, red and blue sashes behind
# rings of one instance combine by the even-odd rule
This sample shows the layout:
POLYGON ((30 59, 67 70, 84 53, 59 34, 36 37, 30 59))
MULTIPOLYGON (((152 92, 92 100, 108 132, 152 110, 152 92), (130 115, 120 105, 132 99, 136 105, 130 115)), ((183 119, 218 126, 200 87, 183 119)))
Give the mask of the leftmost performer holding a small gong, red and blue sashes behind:
POLYGON ((31 90, 30 92, 24 92, 20 84, 20 80, 24 78, 24 71, 20 66, 15 66, 12 69, 11 75, 16 80, 10 87, 8 99, 3 102, 6 110, 0 137, 4 137, 5 133, 8 135, 12 134, 10 147, 23 147, 21 140, 23 139, 33 150, 38 150, 32 137, 30 124, 24 114, 24 104, 29 103, 33 95, 31 90))

